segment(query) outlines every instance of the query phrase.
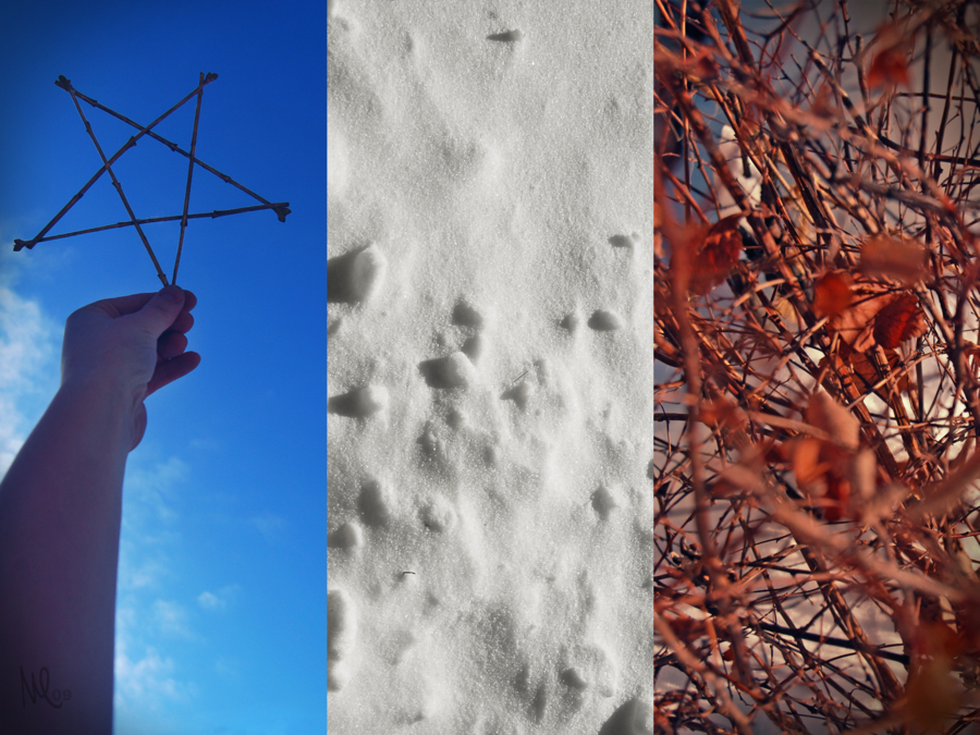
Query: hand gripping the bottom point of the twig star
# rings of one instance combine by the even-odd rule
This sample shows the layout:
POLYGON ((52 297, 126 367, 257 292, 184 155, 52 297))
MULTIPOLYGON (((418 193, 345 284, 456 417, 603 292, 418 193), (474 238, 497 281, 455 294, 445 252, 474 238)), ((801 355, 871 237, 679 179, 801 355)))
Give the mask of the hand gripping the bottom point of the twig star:
POLYGON ((200 355, 185 352, 196 304, 192 292, 170 285, 78 309, 65 322, 62 385, 94 381, 122 391, 134 411, 135 448, 146 430, 144 399, 200 363, 200 355))

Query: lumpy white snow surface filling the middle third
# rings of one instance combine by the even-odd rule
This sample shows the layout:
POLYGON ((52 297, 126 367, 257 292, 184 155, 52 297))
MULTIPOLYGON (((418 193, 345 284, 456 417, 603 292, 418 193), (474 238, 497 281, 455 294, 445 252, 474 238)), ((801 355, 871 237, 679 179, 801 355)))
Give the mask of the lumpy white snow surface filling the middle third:
POLYGON ((652 7, 329 14, 330 733, 652 733, 652 7))

